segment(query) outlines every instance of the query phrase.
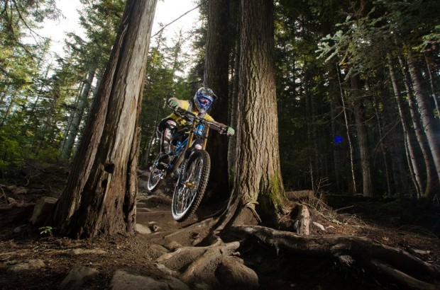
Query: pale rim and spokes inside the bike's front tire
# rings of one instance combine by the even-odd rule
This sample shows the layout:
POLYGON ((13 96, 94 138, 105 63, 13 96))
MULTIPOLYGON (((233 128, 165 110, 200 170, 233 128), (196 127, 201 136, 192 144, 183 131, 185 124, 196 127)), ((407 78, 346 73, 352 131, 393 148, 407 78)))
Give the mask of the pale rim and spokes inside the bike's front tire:
POLYGON ((172 197, 172 216, 175 219, 187 214, 197 195, 200 178, 202 178, 203 160, 197 158, 190 168, 185 168, 185 175, 181 178, 185 181, 177 182, 175 194, 172 197), (182 184, 180 187, 179 185, 182 184))

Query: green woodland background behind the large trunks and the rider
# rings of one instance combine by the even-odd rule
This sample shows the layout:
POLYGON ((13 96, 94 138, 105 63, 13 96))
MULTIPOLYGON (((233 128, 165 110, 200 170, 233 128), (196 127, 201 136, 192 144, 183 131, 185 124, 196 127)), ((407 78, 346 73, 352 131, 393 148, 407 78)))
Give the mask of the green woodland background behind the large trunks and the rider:
MULTIPOLYGON (((35 28, 60 11, 53 0, 33 2, 0 1, 4 180, 72 161, 126 1, 82 0, 86 37, 70 33, 65 56, 55 59, 35 28)), ((238 1, 230 5, 229 41, 220 48, 229 52, 231 88, 219 98, 228 97, 234 127, 238 1)), ((194 6, 200 27, 150 42, 139 120, 143 167, 155 156, 155 126, 169 114, 165 100, 189 99, 202 86, 207 1, 194 6)), ((286 190, 438 203, 439 15, 439 1, 275 1, 275 129, 286 190)))

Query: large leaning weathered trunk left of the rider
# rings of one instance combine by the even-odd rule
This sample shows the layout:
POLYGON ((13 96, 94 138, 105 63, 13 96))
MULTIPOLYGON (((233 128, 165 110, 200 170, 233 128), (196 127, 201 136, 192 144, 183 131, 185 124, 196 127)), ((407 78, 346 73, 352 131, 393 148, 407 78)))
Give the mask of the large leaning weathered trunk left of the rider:
POLYGON ((133 233, 138 114, 157 0, 128 0, 53 224, 63 235, 133 233))

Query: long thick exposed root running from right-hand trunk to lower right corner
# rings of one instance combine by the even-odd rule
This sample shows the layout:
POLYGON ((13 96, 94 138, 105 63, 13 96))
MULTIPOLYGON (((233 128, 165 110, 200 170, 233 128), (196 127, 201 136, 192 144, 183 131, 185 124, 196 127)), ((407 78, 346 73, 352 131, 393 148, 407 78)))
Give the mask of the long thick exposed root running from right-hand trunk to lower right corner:
POLYGON ((343 266, 369 269, 412 289, 440 289, 440 267, 413 257, 404 250, 354 236, 299 236, 263 226, 233 226, 231 231, 258 238, 277 253, 335 257, 343 266))

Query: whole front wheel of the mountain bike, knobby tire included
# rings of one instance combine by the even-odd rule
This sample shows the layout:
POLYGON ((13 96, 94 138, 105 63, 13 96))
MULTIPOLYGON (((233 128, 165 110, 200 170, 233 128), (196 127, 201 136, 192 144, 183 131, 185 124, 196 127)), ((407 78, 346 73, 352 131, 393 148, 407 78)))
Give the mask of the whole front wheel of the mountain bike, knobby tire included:
POLYGON ((189 156, 172 195, 173 219, 185 221, 194 214, 207 189, 209 170, 211 159, 207 151, 197 150, 189 156))

